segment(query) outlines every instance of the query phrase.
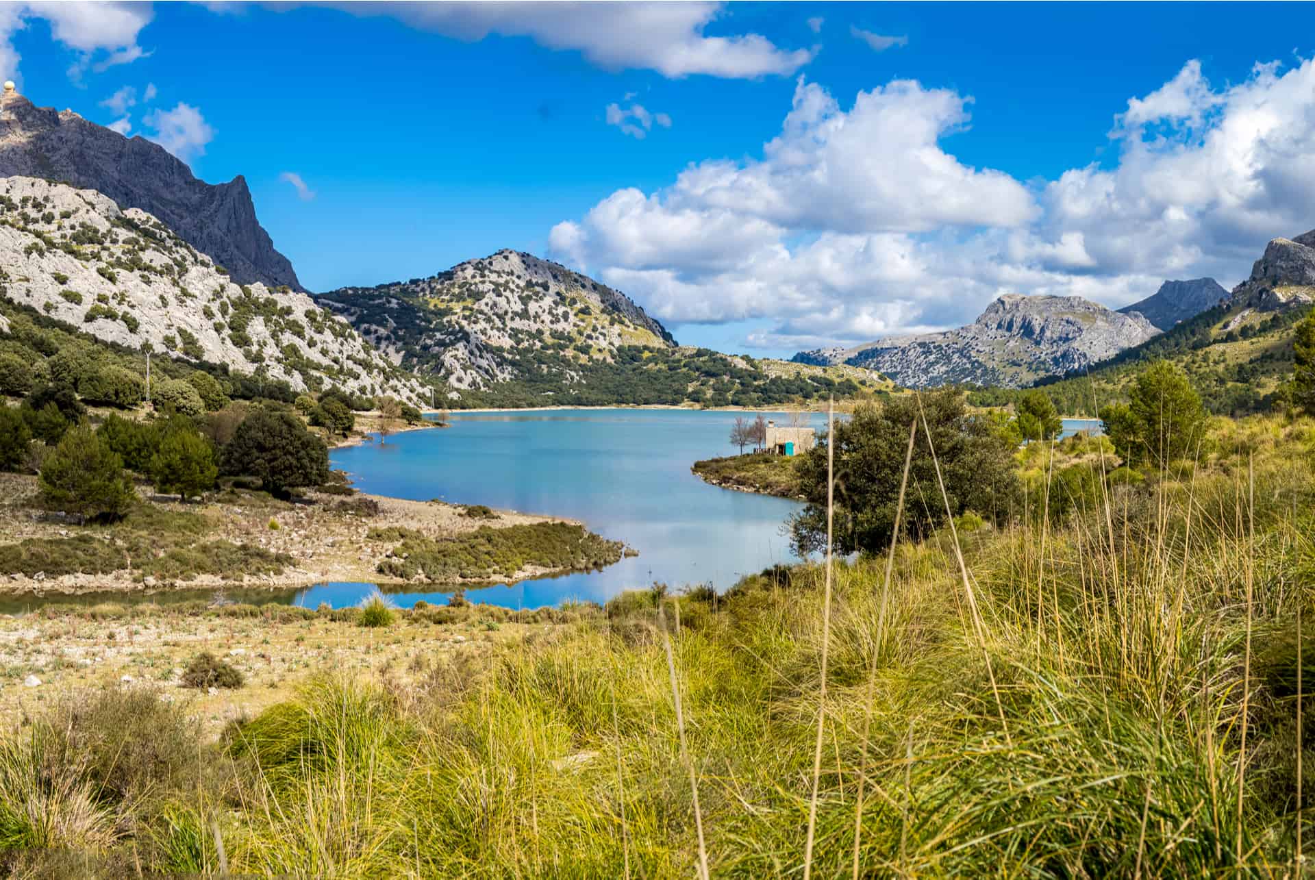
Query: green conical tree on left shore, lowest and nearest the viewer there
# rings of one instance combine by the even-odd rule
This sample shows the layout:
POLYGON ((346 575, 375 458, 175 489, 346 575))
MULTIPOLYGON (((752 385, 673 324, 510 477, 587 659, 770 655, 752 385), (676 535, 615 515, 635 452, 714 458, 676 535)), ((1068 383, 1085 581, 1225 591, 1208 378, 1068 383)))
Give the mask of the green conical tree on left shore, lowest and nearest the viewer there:
POLYGON ((47 508, 99 520, 117 520, 137 499, 124 459, 88 426, 64 434, 41 466, 38 485, 47 508))

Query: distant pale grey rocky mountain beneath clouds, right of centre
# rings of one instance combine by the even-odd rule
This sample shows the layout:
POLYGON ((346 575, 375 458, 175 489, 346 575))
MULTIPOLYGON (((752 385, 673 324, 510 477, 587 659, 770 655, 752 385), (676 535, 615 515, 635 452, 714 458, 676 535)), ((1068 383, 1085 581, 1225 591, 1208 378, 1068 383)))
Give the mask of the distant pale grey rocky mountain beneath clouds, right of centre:
POLYGON ((1001 296, 972 324, 890 337, 855 349, 801 351, 801 363, 878 370, 901 385, 1019 387, 1078 370, 1156 335, 1140 313, 1119 314, 1078 296, 1001 296))

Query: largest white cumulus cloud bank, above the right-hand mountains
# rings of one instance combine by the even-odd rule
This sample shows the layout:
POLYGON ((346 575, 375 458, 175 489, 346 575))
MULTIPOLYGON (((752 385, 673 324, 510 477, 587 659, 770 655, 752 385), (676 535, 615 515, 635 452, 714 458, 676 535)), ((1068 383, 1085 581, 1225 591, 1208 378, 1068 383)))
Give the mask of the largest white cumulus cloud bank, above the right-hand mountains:
POLYGON ((801 80, 759 155, 618 189, 550 250, 667 321, 813 347, 963 324, 1001 293, 1116 308, 1168 278, 1227 287, 1269 238, 1315 226, 1315 61, 1222 88, 1187 62, 1110 108, 1111 162, 1026 185, 942 146, 969 107, 896 80, 843 108, 801 80))

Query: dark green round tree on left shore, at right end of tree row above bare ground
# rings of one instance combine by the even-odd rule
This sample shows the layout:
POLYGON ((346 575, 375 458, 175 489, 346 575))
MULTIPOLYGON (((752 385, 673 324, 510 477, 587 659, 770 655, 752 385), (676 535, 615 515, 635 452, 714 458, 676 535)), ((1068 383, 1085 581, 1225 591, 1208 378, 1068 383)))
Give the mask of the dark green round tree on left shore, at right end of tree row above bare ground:
POLYGON ((329 450, 292 413, 252 410, 224 449, 224 471, 260 479, 272 495, 329 479, 329 450))

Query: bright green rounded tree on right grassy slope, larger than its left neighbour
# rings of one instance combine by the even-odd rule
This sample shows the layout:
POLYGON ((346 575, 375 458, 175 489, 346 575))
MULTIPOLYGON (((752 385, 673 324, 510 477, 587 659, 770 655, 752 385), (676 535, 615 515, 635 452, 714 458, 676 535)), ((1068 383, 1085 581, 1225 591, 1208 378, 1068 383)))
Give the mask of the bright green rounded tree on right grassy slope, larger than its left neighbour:
POLYGON ((1159 467, 1193 454, 1206 410, 1182 367, 1156 360, 1134 380, 1128 403, 1102 408, 1101 421, 1130 464, 1159 467))

